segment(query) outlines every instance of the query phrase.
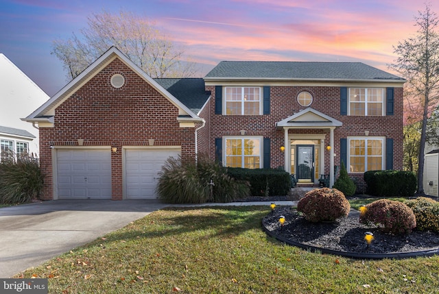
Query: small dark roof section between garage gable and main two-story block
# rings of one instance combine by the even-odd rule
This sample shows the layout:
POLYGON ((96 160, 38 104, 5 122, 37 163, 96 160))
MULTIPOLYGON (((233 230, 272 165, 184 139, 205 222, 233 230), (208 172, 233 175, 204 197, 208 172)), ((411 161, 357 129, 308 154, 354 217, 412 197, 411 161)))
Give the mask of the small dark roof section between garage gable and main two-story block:
POLYGON ((154 79, 154 81, 195 114, 198 114, 211 95, 204 89, 204 79, 202 78, 154 79))

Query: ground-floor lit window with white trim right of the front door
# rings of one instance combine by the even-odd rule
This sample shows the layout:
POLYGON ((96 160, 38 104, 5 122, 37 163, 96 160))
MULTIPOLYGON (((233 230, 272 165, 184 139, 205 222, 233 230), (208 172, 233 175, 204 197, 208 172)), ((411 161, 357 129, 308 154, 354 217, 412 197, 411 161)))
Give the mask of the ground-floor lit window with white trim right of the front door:
POLYGON ((385 169, 385 138, 348 138, 348 167, 351 173, 385 169))

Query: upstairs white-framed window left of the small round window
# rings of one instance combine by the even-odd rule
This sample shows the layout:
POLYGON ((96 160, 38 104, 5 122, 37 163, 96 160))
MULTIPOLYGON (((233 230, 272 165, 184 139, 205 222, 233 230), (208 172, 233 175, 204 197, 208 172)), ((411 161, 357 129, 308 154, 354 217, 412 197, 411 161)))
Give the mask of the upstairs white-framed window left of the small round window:
POLYGON ((226 115, 262 114, 261 87, 226 87, 226 115))

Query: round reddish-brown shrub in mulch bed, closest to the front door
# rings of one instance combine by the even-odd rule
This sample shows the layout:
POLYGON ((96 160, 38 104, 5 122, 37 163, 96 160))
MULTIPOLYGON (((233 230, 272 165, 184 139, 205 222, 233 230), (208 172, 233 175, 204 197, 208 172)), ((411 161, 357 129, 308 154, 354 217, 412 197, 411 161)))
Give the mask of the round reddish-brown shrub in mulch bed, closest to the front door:
POLYGON ((305 194, 297 204, 297 211, 305 215, 307 221, 335 221, 347 217, 351 204, 344 194, 335 188, 313 189, 305 194))

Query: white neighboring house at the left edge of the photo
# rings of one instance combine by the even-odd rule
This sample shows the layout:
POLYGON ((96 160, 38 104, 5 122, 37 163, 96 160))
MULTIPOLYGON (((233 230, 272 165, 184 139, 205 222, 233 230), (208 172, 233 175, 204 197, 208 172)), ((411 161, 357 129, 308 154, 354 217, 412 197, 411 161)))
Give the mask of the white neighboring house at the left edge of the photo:
POLYGON ((38 129, 21 119, 48 99, 43 90, 0 53, 1 154, 12 151, 38 156, 38 129))

